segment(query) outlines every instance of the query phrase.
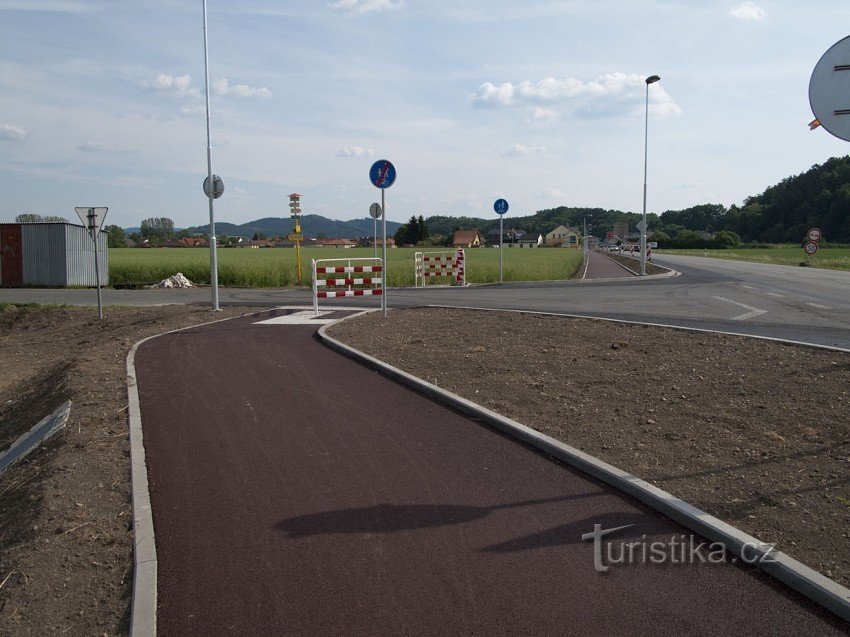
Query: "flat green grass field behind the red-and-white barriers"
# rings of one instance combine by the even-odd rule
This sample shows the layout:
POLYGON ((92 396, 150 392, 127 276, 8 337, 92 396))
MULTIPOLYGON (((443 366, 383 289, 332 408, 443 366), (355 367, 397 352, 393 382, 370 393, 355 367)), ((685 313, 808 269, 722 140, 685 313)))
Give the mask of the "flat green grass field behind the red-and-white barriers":
MULTIPOLYGON (((413 255, 418 248, 387 251, 388 285, 413 285, 413 255)), ((424 250, 423 250, 424 251, 424 250)), ((371 257, 372 248, 310 248, 301 251, 304 282, 309 285, 311 259, 371 257)), ((379 251, 380 256, 380 251, 379 251)), ((499 251, 466 250, 468 283, 499 280, 499 251)), ((546 281, 571 278, 582 263, 580 250, 506 248, 506 281, 546 281)), ((210 282, 209 250, 202 248, 111 248, 112 285, 154 283, 182 272, 194 283, 210 282)), ((291 248, 219 248, 218 281, 230 287, 290 287, 296 285, 295 250, 291 248)), ((443 282, 444 279, 436 279, 443 282)))

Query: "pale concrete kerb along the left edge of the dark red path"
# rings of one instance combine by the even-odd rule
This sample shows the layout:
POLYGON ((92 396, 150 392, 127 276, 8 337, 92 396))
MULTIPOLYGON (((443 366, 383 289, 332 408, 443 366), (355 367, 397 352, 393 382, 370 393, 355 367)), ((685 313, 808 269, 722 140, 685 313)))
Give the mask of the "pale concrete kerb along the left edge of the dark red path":
POLYGON ((148 637, 156 635, 157 604, 157 561, 154 538, 153 514, 151 511, 150 491, 148 489, 148 469, 145 463, 144 437, 142 434, 142 414, 139 407, 139 389, 136 379, 136 350, 144 343, 166 334, 231 321, 257 312, 247 312, 241 316, 189 325, 162 334, 143 338, 133 345, 127 354, 127 402, 130 428, 130 483, 133 502, 133 596, 130 603, 130 635, 148 637))

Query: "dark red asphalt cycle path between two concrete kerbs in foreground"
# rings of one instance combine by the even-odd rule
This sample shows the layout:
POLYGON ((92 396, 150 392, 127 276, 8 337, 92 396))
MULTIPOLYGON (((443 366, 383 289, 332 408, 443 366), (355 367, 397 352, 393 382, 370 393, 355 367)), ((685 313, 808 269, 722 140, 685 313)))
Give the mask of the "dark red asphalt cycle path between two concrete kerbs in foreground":
POLYGON ((740 565, 593 569, 687 531, 272 310, 136 354, 161 635, 841 634, 740 565))

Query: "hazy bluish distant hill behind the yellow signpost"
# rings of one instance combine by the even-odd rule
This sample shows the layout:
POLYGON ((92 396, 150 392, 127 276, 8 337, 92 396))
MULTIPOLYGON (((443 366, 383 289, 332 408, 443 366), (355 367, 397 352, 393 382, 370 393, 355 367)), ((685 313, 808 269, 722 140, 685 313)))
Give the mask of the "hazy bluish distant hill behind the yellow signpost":
MULTIPOLYGON (((401 226, 400 223, 387 221, 387 234, 394 234, 399 226, 401 226)), ((189 232, 192 234, 203 234, 208 231, 209 226, 189 228, 189 232)), ((219 221, 215 224, 215 231, 218 235, 227 235, 229 237, 253 237, 256 233, 264 234, 267 237, 283 237, 292 232, 292 219, 265 217, 243 224, 219 221)), ((304 215, 301 217, 301 232, 306 237, 318 237, 323 234, 326 237, 356 239, 359 237, 371 237, 372 231, 373 223, 371 217, 353 219, 351 221, 328 219, 321 215, 304 215)), ((378 232, 380 231, 381 224, 379 221, 378 232)))

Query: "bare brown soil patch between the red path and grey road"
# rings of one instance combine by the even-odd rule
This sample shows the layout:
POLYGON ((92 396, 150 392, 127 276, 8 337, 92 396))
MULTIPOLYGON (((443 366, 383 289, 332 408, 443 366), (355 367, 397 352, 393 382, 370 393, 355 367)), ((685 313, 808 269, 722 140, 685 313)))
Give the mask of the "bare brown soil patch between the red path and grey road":
POLYGON ((850 585, 850 354, 450 309, 374 312, 329 334, 850 585))

